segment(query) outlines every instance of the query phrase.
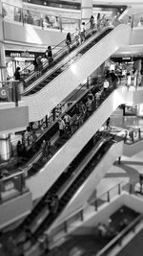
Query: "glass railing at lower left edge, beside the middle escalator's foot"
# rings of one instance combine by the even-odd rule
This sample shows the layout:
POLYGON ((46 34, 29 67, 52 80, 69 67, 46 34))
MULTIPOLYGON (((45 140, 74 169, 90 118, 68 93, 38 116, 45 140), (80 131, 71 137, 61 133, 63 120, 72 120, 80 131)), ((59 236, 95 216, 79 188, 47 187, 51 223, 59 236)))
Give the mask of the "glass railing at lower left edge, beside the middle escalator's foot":
POLYGON ((28 189, 25 185, 23 172, 0 178, 0 203, 22 195, 26 191, 28 191, 28 189))

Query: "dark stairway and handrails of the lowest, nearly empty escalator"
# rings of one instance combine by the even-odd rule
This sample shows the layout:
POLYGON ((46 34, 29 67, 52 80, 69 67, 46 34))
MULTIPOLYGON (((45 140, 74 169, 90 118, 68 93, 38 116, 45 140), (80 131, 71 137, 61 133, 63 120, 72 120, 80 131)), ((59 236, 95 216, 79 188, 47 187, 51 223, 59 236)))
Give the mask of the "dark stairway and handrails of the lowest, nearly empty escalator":
MULTIPOLYGON (((53 221, 62 215, 63 210, 78 190, 81 190, 80 188, 85 182, 87 182, 87 179, 89 179, 92 173, 95 172, 95 169, 102 161, 103 157, 108 153, 108 151, 110 151, 114 143, 116 144, 117 141, 114 141, 110 134, 106 134, 105 136, 101 133, 97 133, 93 136, 84 149, 75 157, 66 172, 56 180, 56 182, 51 186, 51 189, 35 206, 28 218, 26 218, 25 221, 23 221, 22 224, 14 230, 12 236, 15 237, 15 240, 25 240, 25 234, 23 231, 26 227, 29 227, 32 233, 31 243, 34 244, 35 238, 42 235, 44 231, 51 227, 53 221), (58 195, 58 207, 57 211, 53 214, 53 212, 48 210, 47 198, 48 195, 55 194, 58 195)), ((118 155, 114 155, 113 161, 117 156, 118 155)), ((100 175, 97 180, 94 180, 94 182, 99 182, 99 179, 101 179, 106 172, 107 168, 105 168, 102 175, 100 175)), ((86 192, 84 200, 88 200, 91 194, 92 190, 90 191, 90 194, 86 192)), ((78 197, 80 196, 81 191, 80 194, 78 193, 78 197)))

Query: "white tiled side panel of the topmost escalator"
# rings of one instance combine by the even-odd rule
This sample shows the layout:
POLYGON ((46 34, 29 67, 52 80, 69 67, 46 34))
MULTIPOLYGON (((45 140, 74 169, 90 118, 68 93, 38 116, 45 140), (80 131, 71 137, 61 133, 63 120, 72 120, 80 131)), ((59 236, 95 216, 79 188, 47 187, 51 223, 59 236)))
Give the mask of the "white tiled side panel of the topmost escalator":
POLYGON ((64 72, 52 80, 48 86, 31 96, 23 98, 30 109, 30 122, 44 118, 84 81, 92 72, 109 58, 119 47, 129 43, 130 27, 121 24, 103 37, 97 44, 75 60, 64 72))

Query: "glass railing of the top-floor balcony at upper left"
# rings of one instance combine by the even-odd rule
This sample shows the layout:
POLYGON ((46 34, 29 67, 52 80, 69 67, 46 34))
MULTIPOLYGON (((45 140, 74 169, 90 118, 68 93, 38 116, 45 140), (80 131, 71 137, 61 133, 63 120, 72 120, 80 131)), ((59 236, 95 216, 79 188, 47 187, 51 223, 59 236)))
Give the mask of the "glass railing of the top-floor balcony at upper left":
POLYGON ((2 3, 3 17, 25 24, 31 24, 41 27, 42 29, 56 29, 74 31, 75 26, 79 28, 80 20, 76 18, 61 17, 59 13, 56 16, 51 15, 49 12, 33 12, 25 8, 19 8, 7 3, 2 3))

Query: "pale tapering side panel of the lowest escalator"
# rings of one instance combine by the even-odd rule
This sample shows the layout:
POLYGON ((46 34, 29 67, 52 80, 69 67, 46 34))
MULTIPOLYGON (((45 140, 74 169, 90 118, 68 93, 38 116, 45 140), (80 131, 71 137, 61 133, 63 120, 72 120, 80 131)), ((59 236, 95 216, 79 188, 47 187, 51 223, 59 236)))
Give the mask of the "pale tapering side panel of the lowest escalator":
POLYGON ((88 201, 95 191, 97 184, 99 184, 100 180, 107 174, 107 171, 110 169, 116 158, 122 154, 123 143, 123 141, 120 141, 113 144, 111 149, 105 153, 101 161, 92 171, 92 174, 86 179, 83 185, 79 187, 60 216, 53 222, 49 232, 51 232, 51 229, 58 225, 58 223, 65 221, 73 212, 85 205, 86 201, 88 201))

